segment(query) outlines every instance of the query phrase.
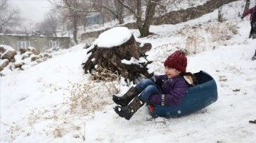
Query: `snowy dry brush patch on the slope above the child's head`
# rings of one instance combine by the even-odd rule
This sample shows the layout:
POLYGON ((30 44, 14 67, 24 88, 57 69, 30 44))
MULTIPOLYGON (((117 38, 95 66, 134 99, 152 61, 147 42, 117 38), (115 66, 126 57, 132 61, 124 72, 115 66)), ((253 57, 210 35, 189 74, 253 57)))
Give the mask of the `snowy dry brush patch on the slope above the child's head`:
POLYGON ((238 27, 233 21, 223 23, 209 22, 200 25, 186 25, 178 30, 178 35, 185 37, 184 41, 176 43, 190 53, 214 49, 218 45, 238 34, 238 27), (224 24, 223 24, 224 23, 224 24))

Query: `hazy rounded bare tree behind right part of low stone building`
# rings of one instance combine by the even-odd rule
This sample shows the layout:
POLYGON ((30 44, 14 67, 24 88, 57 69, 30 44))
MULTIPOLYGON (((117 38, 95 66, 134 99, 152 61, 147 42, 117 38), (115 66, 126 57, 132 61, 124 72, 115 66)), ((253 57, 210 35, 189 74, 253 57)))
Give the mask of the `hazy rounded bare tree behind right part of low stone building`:
POLYGON ((60 25, 58 16, 53 12, 47 13, 43 22, 38 26, 38 30, 43 32, 43 35, 54 35, 57 37, 57 29, 60 25))

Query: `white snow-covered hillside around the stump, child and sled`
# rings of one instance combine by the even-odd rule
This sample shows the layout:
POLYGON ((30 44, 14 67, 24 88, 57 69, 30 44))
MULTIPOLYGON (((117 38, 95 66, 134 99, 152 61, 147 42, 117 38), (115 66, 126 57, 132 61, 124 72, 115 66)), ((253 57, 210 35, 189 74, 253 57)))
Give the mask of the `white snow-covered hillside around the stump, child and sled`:
MULTIPOLYGON (((242 11, 241 2, 228 10, 242 11)), ((164 74, 163 62, 177 48, 198 48, 189 49, 187 71, 203 70, 215 79, 218 101, 207 108, 166 119, 151 118, 144 106, 131 120, 119 118, 109 87, 115 85, 123 94, 135 85, 126 86, 122 78, 119 84, 92 81, 81 65, 90 48, 80 44, 24 71, 1 71, 6 75, 0 79, 1 142, 255 142, 256 125, 248 121, 256 120, 256 61, 251 60, 256 40, 248 39, 250 21, 235 14, 225 15, 238 28, 229 40, 215 40, 214 34, 206 33, 216 24, 220 27, 210 28, 230 32, 230 23, 215 22, 217 11, 186 23, 152 25, 150 31, 156 34, 139 38, 152 44, 146 54, 154 74, 164 74)), ((138 35, 138 30, 130 31, 138 35)))

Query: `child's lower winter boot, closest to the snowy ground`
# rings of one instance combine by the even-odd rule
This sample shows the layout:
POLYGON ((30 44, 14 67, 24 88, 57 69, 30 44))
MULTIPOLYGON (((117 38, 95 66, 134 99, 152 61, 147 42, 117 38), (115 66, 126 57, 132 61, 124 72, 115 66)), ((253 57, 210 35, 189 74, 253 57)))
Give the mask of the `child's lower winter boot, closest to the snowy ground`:
POLYGON ((129 103, 129 105, 121 107, 119 105, 115 106, 114 111, 122 118, 125 118, 126 120, 129 120, 132 118, 132 115, 137 112, 139 108, 141 108, 144 105, 144 103, 139 100, 139 97, 137 96, 134 98, 134 100, 129 103))

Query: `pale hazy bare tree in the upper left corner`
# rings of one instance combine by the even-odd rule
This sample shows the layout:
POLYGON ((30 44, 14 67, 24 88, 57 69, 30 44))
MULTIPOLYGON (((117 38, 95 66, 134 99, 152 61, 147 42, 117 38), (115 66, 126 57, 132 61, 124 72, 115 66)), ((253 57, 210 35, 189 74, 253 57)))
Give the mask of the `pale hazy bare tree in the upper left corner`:
POLYGON ((20 10, 8 4, 9 0, 0 0, 0 31, 19 25, 20 10))

